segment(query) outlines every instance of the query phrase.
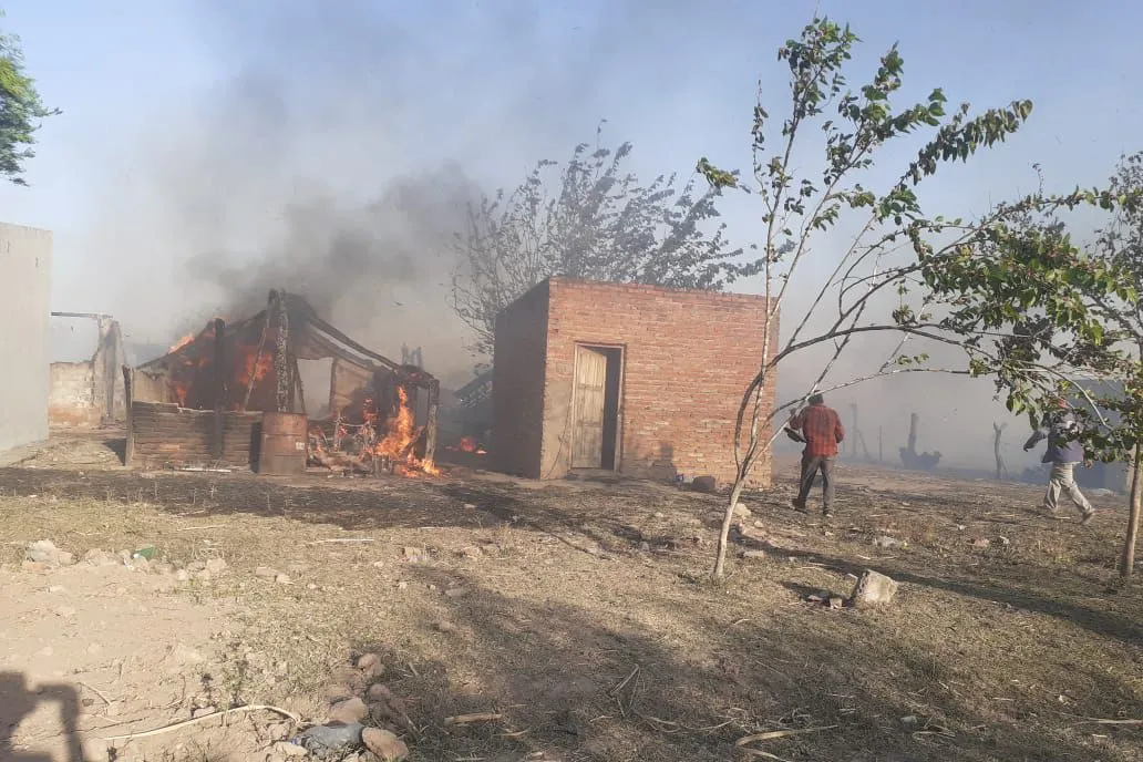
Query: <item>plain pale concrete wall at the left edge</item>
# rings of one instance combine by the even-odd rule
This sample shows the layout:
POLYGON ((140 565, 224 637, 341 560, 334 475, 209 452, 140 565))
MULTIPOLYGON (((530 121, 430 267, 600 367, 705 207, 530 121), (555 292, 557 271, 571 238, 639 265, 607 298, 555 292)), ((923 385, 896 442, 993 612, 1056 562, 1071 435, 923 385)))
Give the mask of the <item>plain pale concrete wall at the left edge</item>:
POLYGON ((51 232, 0 223, 0 450, 48 436, 51 232))

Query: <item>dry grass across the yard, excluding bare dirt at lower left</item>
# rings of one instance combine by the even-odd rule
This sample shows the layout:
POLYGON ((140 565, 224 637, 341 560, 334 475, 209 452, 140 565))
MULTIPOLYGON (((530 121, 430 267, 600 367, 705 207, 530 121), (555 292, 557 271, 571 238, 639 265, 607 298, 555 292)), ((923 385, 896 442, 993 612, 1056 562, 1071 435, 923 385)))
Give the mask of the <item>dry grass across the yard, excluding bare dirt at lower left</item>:
POLYGON ((210 675, 219 703, 322 699, 352 655, 376 651, 421 729, 418 760, 725 760, 748 735, 822 728, 750 746, 785 760, 1143 759, 1143 728, 1089 722, 1143 717, 1143 595, 1112 585, 1121 513, 1080 528, 1037 515, 1034 489, 841 479, 829 524, 789 510, 786 484, 751 498, 761 528, 742 543, 767 558, 718 586, 705 581, 718 498, 640 484, 8 470, 0 540, 224 558, 232 573, 177 593, 242 611, 210 675), (306 544, 335 537, 375 542, 306 544), (864 568, 904 583, 890 609, 805 601, 848 594, 864 568), (443 721, 474 712, 503 717, 443 721))

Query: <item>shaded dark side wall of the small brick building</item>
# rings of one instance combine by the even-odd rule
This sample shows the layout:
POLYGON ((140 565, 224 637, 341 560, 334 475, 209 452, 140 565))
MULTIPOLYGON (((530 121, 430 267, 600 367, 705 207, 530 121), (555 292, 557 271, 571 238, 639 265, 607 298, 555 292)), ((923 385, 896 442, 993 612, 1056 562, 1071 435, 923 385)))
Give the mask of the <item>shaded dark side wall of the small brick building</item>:
POLYGON ((546 335, 545 281, 497 316, 493 350, 493 465, 530 479, 541 478, 546 335))

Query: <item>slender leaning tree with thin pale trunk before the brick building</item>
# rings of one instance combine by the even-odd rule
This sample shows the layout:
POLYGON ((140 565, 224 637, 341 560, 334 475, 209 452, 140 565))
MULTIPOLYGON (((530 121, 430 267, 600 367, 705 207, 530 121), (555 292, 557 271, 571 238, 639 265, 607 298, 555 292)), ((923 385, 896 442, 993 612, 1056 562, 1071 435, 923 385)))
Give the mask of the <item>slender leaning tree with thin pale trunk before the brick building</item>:
MULTIPOLYGON (((1024 222, 1079 204, 1113 207, 1101 191, 1049 196, 1042 192, 1002 203, 978 219, 928 216, 919 186, 937 169, 967 161, 994 146, 1029 118, 1032 104, 1016 101, 972 115, 968 104, 948 113, 941 89, 914 104, 896 106, 903 61, 894 46, 869 81, 850 88, 847 69, 857 37, 848 26, 814 18, 798 39, 778 50, 790 72, 789 113, 774 130, 759 101, 752 128, 753 167, 749 179, 708 159, 700 171, 713 187, 741 189, 760 202, 765 238, 760 257, 749 266, 761 275, 768 297, 766 335, 789 294, 816 295, 804 314, 784 315, 790 336, 764 351, 758 372, 745 390, 735 427, 736 476, 722 522, 714 576, 724 573, 734 507, 751 470, 773 443, 766 432, 783 410, 801 404, 814 391, 828 391, 870 378, 904 372, 993 376, 1016 398, 1046 396, 1062 380, 1065 361, 1024 356, 1021 338, 1029 330, 1025 314, 1039 310, 1048 327, 1092 338, 1101 329, 1087 310, 1085 295, 1097 289, 1128 298, 1126 287, 1098 262, 1088 260, 1063 234, 1042 235, 1024 222), (777 143, 770 147, 772 133, 777 143), (884 187, 869 173, 890 143, 927 133, 916 157, 884 187), (822 150, 817 162, 807 150, 822 150), (808 169, 807 169, 808 168, 808 169), (815 246, 844 217, 855 218, 856 234, 837 246, 815 246), (1056 249, 1068 256, 1056 262, 1056 249), (824 262, 822 259, 825 258, 824 262), (829 273, 816 281, 806 263, 818 259, 829 273), (1045 288, 1050 283, 1050 289, 1045 288), (896 302, 896 304, 893 304, 896 302), (824 328, 812 328, 821 324, 824 328), (868 375, 834 379, 838 359, 864 334, 898 336, 894 348, 868 375), (935 367, 921 343, 956 347, 957 362, 935 367), (813 387, 799 399, 769 409, 762 390, 777 368, 796 355, 828 345, 813 387)), ((1045 328, 1044 330, 1047 330, 1045 328)))

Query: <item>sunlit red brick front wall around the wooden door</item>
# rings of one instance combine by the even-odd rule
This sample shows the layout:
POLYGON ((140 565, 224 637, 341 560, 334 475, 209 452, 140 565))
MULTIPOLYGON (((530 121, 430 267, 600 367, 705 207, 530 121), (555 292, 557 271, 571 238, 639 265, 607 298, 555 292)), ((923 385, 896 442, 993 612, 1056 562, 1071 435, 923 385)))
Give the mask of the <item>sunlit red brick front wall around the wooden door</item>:
MULTIPOLYGON (((761 361, 766 299, 563 279, 550 280, 546 291, 539 478, 559 478, 568 470, 569 408, 578 343, 624 350, 621 472, 650 478, 676 472, 687 478, 709 474, 720 483, 732 480, 734 423, 742 394, 761 361)), ((772 347, 776 337, 777 320, 772 324, 772 347)), ((501 386, 513 376, 511 367, 501 368, 497 326, 494 394, 504 404, 533 402, 530 396, 521 396, 522 387, 531 393, 530 384, 507 390, 501 386)), ((530 383, 535 383, 534 377, 530 383)), ((773 377, 764 396, 765 404, 773 406, 773 377)), ((503 442, 501 432, 496 432, 495 441, 503 442)), ((529 440, 526 447, 534 444, 529 440)), ((753 481, 768 484, 770 475, 769 459, 760 460, 753 481)))

